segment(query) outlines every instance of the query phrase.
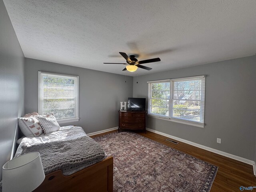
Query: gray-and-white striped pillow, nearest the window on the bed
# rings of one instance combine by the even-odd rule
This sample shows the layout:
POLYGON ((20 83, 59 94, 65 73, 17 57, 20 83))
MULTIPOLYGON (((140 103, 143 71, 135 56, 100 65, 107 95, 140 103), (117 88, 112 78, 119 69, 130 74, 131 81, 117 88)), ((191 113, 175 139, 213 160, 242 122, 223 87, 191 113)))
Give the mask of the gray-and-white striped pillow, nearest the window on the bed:
POLYGON ((58 124, 56 118, 53 115, 50 115, 48 117, 38 115, 36 116, 36 118, 43 128, 44 134, 49 134, 60 129, 60 125, 58 124))

